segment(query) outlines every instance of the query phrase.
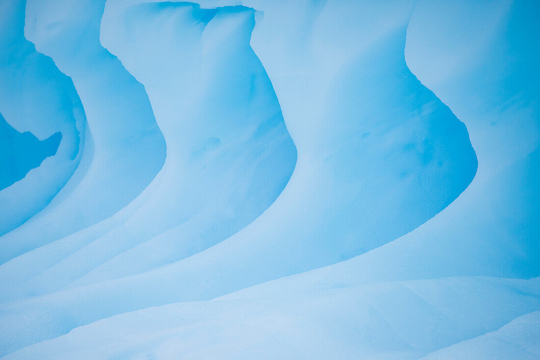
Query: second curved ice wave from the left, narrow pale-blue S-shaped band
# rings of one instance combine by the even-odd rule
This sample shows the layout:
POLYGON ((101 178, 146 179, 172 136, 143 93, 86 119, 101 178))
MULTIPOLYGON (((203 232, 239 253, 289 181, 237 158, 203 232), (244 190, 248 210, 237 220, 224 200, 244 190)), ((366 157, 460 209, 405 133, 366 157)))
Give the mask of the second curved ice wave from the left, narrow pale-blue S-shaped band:
POLYGON ((26 4, 25 36, 77 86, 92 132, 92 159, 69 194, 4 236, 4 256, 14 244, 18 248, 12 257, 108 218, 133 200, 163 165, 165 143, 144 87, 99 44, 103 7, 104 1, 77 2, 70 8, 62 1, 26 4), (69 11, 58 11, 62 6, 69 11))

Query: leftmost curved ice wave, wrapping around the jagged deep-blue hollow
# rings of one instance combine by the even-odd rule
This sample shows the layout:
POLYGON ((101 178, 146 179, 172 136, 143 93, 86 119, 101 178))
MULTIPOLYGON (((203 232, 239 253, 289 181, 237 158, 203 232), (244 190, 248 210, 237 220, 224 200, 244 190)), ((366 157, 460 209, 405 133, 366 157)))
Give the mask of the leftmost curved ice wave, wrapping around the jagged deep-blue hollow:
MULTIPOLYGON (((2 235, 37 214, 65 186, 81 160, 86 133, 83 106, 72 81, 24 38, 24 11, 24 1, 0 4, 0 113, 18 132, 28 131, 39 140, 60 132, 62 141, 55 156, 26 169, 23 179, 0 191, 2 235)), ((12 136, 4 132, 3 139, 15 141, 12 136)), ((32 249, 25 246, 24 237, 9 244, 4 239, 0 263, 32 249)))

